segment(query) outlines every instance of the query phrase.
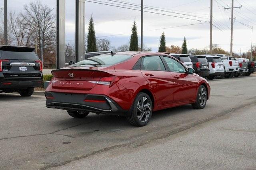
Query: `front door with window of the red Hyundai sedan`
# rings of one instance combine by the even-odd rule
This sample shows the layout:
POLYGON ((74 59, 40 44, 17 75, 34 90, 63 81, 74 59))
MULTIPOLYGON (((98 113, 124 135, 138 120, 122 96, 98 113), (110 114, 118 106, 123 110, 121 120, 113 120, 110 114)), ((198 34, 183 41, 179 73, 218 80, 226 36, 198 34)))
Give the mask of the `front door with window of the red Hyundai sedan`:
POLYGON ((174 77, 174 103, 187 102, 196 98, 196 79, 192 74, 186 72, 185 66, 172 59, 163 57, 170 73, 174 77))

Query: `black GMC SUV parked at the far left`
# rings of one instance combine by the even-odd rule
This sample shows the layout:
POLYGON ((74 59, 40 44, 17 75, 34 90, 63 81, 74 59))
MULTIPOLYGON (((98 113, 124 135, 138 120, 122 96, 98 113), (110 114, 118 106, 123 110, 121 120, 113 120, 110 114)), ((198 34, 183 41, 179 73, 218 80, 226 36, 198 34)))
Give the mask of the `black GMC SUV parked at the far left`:
POLYGON ((31 47, 0 46, 0 93, 31 96, 42 86, 42 62, 31 47))

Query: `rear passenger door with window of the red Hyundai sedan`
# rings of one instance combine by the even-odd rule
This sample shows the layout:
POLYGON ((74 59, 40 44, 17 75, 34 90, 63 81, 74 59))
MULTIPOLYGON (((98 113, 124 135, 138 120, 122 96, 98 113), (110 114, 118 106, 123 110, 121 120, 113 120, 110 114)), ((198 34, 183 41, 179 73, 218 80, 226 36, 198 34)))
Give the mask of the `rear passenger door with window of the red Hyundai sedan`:
POLYGON ((160 56, 143 57, 141 72, 152 88, 157 104, 171 104, 174 98, 174 78, 164 67, 160 56))

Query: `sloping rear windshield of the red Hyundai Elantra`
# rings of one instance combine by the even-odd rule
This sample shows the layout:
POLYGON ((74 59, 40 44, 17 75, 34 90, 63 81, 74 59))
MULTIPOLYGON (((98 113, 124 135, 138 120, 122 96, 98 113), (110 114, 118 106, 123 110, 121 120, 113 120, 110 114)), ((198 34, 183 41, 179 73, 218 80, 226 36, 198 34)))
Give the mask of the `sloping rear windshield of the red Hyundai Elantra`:
MULTIPOLYGON (((132 58, 131 55, 122 55, 122 54, 116 54, 116 55, 98 55, 95 57, 91 57, 89 59, 80 61, 76 64, 79 65, 114 65, 121 63, 123 61, 126 61, 128 59, 132 58)), ((76 65, 73 64, 73 65, 76 65)))

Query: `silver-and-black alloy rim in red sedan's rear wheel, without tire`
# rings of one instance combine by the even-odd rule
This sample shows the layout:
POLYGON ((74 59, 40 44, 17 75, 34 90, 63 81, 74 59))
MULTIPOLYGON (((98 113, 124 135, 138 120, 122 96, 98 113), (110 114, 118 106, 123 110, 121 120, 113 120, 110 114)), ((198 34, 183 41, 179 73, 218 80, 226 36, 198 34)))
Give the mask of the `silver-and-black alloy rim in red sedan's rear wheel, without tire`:
POLYGON ((148 98, 143 97, 138 101, 136 112, 139 121, 146 122, 149 119, 151 112, 151 104, 148 98))

